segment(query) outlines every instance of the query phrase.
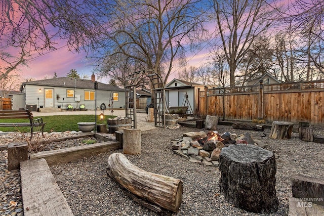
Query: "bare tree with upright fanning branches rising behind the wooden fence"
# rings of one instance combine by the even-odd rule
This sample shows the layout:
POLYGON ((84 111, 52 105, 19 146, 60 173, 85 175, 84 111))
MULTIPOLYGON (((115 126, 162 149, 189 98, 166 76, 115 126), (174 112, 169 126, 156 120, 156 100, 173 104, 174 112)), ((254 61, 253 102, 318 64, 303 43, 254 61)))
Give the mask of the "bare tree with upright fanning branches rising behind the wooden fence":
POLYGON ((212 0, 220 44, 230 69, 230 85, 235 70, 256 37, 271 27, 276 12, 264 0, 212 0))

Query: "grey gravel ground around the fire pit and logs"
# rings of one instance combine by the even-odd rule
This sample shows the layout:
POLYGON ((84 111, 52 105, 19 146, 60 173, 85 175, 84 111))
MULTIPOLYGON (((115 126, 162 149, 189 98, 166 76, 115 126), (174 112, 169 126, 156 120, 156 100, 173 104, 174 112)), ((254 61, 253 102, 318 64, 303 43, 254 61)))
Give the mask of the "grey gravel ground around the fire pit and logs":
MULTIPOLYGON (((236 134, 249 132, 254 139, 268 144, 267 149, 277 155, 276 194, 279 200, 277 212, 257 214, 229 204, 219 191, 218 167, 189 162, 174 154, 170 141, 182 137, 185 132, 201 129, 180 127, 157 128, 141 134, 141 154, 127 155, 136 166, 156 174, 171 176, 183 181, 182 204, 172 215, 287 215, 291 193, 291 176, 302 174, 324 178, 324 145, 303 142, 293 133, 289 140, 272 140, 261 137, 262 132, 232 129, 218 125, 218 132, 236 134)), ((266 129, 269 135, 270 130, 266 129)), ((322 128, 314 128, 315 135, 324 134, 322 128)), ((127 197, 106 174, 107 159, 113 152, 51 166, 52 173, 61 188, 74 215, 158 215, 127 197)), ((7 170, 7 151, 1 151, 1 215, 23 215, 19 171, 7 170), (16 207, 10 201, 17 203, 16 207), (15 213, 14 213, 15 212, 15 213)), ((13 203, 15 204, 15 203, 13 203)))

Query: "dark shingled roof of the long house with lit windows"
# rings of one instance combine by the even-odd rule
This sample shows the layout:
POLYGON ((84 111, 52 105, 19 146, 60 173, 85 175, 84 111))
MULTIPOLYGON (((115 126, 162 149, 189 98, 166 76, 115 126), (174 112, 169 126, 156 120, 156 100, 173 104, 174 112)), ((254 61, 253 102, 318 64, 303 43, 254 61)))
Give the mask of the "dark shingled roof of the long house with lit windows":
MULTIPOLYGON (((52 79, 43 79, 43 80, 23 82, 21 84, 20 91, 22 91, 23 86, 25 86, 26 84, 44 85, 44 86, 49 86, 49 87, 95 89, 95 84, 90 79, 79 79, 79 78, 74 79, 74 78, 70 78, 70 77, 56 77, 56 78, 52 78, 52 79)), ((105 84, 102 82, 98 82, 98 90, 109 90, 109 91, 116 91, 116 92, 124 91, 124 89, 115 87, 114 85, 105 84)))

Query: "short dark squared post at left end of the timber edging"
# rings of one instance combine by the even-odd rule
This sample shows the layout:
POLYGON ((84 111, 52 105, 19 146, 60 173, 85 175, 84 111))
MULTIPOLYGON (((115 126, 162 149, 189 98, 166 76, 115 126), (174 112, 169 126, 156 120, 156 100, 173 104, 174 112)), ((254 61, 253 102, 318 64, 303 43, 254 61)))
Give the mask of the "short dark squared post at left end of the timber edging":
POLYGON ((20 162, 28 160, 28 144, 26 142, 8 144, 8 170, 19 169, 20 162))

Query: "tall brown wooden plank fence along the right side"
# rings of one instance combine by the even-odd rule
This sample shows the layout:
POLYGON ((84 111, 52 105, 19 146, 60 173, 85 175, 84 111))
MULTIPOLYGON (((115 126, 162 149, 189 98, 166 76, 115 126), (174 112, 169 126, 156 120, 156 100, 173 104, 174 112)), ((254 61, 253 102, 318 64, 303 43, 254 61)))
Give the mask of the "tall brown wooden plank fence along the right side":
POLYGON ((204 92, 199 92, 198 112, 221 119, 224 116, 225 119, 324 124, 323 99, 324 81, 205 88, 204 92))

